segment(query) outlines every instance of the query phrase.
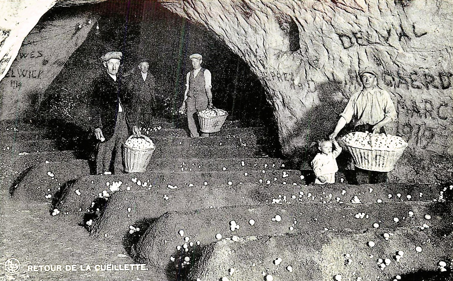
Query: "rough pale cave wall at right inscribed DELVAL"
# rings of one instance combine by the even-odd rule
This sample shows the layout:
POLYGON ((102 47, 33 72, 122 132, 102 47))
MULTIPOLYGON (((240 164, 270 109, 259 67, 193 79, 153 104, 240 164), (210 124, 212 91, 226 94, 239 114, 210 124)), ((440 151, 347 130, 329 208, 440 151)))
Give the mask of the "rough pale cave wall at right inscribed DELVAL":
POLYGON ((291 153, 326 137, 359 67, 379 71, 414 153, 452 154, 452 1, 183 0, 163 4, 221 36, 260 77, 291 153))

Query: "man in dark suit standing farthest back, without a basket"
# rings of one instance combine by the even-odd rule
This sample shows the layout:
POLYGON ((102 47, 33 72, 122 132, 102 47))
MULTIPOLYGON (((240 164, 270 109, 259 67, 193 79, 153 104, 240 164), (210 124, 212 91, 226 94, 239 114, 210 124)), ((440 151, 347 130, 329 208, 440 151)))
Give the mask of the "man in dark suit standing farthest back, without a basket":
POLYGON ((156 81, 154 76, 148 71, 149 61, 145 57, 140 57, 138 71, 134 72, 130 80, 130 89, 133 91, 135 99, 140 106, 139 123, 144 127, 150 126, 152 114, 156 109, 156 81))

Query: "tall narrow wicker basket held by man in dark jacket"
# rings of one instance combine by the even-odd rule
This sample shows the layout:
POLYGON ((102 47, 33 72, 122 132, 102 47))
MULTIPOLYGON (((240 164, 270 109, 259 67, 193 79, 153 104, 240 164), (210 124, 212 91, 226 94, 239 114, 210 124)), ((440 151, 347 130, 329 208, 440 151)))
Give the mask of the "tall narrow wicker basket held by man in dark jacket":
MULTIPOLYGON (((134 136, 130 136, 128 140, 133 138, 134 136)), ((147 136, 141 135, 140 138, 144 138, 147 142, 153 143, 151 139, 147 136)), ((132 148, 127 146, 126 144, 123 145, 123 159, 124 159, 124 171, 126 173, 143 173, 146 171, 146 167, 148 166, 149 160, 153 156, 154 148, 149 149, 140 149, 140 148, 132 148)))

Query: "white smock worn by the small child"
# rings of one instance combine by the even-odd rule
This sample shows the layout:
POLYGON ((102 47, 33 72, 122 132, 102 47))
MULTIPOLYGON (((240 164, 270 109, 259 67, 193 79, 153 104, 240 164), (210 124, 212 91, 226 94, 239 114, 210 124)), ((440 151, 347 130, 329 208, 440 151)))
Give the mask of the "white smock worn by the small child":
POLYGON ((333 152, 329 152, 328 154, 316 154, 312 161, 313 172, 316 176, 314 182, 316 184, 335 183, 335 173, 338 171, 336 158, 340 155, 341 151, 341 147, 335 147, 335 150, 333 150, 333 152), (325 176, 327 181, 319 181, 318 176, 325 176))

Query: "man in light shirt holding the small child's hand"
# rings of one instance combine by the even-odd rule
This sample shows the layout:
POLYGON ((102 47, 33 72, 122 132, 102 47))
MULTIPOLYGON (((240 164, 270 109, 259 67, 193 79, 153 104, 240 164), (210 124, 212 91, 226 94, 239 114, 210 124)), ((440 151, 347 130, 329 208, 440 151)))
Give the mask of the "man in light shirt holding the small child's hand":
MULTIPOLYGON (((390 94, 376 85, 377 71, 371 67, 359 70, 363 89, 353 94, 340 114, 337 125, 330 135, 333 139, 353 121, 354 132, 385 133, 384 125, 396 120, 396 110, 390 94)), ((386 172, 356 169, 357 183, 378 183, 387 180, 386 172)))

